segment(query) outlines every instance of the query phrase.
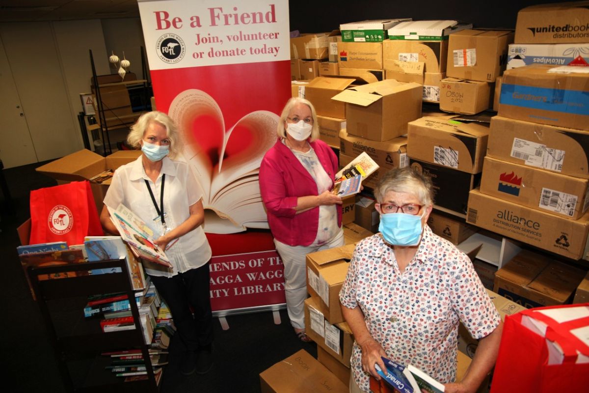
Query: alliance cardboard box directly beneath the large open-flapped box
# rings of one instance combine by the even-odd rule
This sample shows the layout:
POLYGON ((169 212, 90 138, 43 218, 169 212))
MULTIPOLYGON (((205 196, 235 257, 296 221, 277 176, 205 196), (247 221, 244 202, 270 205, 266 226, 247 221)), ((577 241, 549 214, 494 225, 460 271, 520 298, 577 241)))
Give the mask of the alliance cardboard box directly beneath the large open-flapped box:
POLYGON ((379 169, 362 181, 365 187, 376 187, 380 177, 394 168, 402 168, 409 165, 407 158, 407 138, 396 137, 388 141, 378 142, 348 134, 347 130, 339 133, 339 164, 341 167, 349 164, 353 158, 365 151, 379 169))

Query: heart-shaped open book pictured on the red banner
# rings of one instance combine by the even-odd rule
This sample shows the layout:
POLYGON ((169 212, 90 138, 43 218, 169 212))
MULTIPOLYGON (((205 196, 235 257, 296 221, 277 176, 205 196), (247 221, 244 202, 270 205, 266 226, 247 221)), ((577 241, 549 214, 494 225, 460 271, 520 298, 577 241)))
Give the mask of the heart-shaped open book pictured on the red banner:
POLYGON ((178 94, 168 114, 186 136, 184 157, 204 192, 204 230, 267 228, 258 173, 264 154, 276 143, 279 116, 254 111, 225 124, 213 97, 197 89, 178 94))

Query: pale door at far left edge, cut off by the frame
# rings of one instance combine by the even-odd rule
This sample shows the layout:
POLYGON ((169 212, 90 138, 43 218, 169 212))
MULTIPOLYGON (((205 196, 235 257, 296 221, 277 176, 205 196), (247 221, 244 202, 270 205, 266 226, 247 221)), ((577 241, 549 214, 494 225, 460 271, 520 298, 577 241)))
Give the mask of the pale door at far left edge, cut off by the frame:
POLYGON ((36 163, 37 154, 0 39, 0 160, 5 168, 36 163))

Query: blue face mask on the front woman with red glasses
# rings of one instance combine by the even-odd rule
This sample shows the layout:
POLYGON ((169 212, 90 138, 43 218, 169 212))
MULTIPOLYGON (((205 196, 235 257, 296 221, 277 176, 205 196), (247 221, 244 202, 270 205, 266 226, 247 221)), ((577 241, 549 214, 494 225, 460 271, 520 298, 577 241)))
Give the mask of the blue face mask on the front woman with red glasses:
POLYGON ((385 241, 393 246, 416 246, 423 230, 421 214, 380 214, 378 230, 385 241))

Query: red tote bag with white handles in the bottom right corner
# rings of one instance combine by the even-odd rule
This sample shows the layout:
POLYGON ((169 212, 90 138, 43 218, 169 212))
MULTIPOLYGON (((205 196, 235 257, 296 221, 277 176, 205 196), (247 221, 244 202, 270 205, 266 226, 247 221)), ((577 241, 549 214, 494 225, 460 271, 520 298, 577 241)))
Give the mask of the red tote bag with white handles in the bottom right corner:
POLYGON ((505 317, 491 393, 554 393, 589 391, 589 363, 577 363, 578 353, 589 356, 589 346, 571 331, 589 326, 589 317, 558 323, 535 312, 543 309, 589 306, 589 303, 539 307, 505 317), (545 337, 522 325, 524 315, 547 325, 545 337), (557 343, 564 358, 548 364, 547 341, 557 343))

